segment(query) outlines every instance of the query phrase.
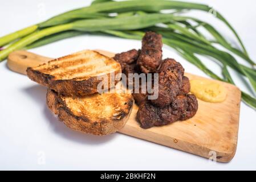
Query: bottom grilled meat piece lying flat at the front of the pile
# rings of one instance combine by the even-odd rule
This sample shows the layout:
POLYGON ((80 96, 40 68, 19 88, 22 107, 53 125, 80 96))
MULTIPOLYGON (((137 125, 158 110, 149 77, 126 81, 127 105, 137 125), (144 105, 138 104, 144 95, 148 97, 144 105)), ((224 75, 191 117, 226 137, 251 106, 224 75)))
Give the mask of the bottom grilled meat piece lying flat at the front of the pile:
POLYGON ((153 106, 149 101, 141 102, 137 112, 137 121, 141 127, 148 129, 153 126, 163 126, 169 123, 192 118, 198 109, 196 96, 186 94, 177 96, 172 104, 160 108, 153 106))

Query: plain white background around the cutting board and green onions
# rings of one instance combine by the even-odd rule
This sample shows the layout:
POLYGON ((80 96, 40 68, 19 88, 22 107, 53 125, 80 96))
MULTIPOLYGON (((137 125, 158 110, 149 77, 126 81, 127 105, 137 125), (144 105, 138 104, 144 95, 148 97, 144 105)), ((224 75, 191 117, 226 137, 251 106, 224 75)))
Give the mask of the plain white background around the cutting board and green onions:
MULTIPOLYGON (((256 61, 256 2, 254 0, 208 0, 238 31, 250 56, 256 61)), ((63 11, 89 5, 90 1, 23 0, 1 1, 0 36, 42 22, 63 11)), ((216 25, 231 42, 234 37, 225 26, 205 13, 191 13, 216 25)), ((140 41, 84 35, 32 49, 48 57, 68 55, 82 49, 112 52, 140 48, 140 41)), ((174 57, 186 72, 205 76, 199 69, 164 47, 164 57, 174 57)), ((204 59, 214 71, 218 67, 204 59)), ((0 63, 0 169, 256 169, 256 112, 241 105, 237 154, 230 163, 209 163, 186 154, 123 134, 95 137, 68 129, 45 104, 46 88, 29 78, 9 71, 0 63), (45 164, 42 158, 45 157, 45 164)), ((234 75, 235 76, 235 75, 234 75)), ((245 85, 237 78, 240 88, 245 85)), ((250 90, 247 90, 249 92, 250 90)))

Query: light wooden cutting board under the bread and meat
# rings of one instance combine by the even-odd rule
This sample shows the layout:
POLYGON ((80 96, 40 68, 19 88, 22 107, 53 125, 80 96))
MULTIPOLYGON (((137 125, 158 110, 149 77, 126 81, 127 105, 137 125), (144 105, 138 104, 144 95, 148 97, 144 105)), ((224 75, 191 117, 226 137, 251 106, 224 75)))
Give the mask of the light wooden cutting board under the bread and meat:
MULTIPOLYGON (((97 50, 103 55, 113 57, 114 53, 97 50)), ((27 67, 34 67, 51 60, 51 58, 35 55, 27 51, 15 51, 8 57, 8 67, 26 74, 27 67)), ((193 79, 205 79, 189 73, 193 79)), ((241 102, 240 90, 226 82, 216 81, 227 89, 227 98, 219 104, 198 100, 197 114, 182 122, 168 126, 141 129, 136 122, 137 105, 133 107, 131 117, 120 133, 148 140, 181 151, 199 155, 218 162, 229 162, 237 148, 239 110, 241 102)))

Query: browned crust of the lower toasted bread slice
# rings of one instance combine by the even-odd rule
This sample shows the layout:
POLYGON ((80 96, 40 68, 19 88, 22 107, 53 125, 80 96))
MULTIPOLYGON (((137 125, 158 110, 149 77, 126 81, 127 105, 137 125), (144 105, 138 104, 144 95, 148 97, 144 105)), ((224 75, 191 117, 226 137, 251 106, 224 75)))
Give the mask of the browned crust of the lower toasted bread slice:
POLYGON ((90 133, 94 135, 108 135, 115 133, 122 129, 127 123, 129 115, 132 112, 133 100, 131 99, 127 105, 128 110, 123 110, 121 117, 118 119, 91 121, 90 116, 84 115, 79 117, 72 113, 67 107, 62 98, 54 90, 48 89, 46 95, 46 102, 50 110, 58 115, 60 121, 62 121, 67 127, 70 127, 76 131, 82 131, 83 133, 90 133))

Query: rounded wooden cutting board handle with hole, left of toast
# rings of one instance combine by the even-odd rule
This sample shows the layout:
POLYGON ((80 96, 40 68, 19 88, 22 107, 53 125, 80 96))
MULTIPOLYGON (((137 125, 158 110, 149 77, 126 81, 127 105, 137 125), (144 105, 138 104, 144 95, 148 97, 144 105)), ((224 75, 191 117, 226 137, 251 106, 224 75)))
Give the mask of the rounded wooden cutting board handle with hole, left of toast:
MULTIPOLYGON (((113 57, 115 56, 112 52, 107 52, 103 50, 95 50, 102 55, 113 57)), ((28 67, 37 67, 40 64, 47 63, 48 61, 52 60, 51 57, 45 57, 36 55, 35 53, 19 50, 10 53, 7 59, 7 66, 11 71, 21 73, 23 75, 27 75, 27 68, 28 67)))

